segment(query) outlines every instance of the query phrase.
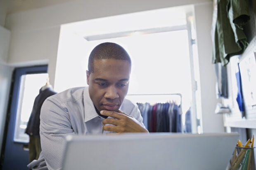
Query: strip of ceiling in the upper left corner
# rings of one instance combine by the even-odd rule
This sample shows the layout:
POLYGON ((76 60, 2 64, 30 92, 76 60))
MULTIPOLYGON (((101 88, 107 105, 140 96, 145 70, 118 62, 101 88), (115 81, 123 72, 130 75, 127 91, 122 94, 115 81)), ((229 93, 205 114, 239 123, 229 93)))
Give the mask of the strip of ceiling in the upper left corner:
POLYGON ((57 5, 74 0, 0 0, 6 6, 6 14, 57 5))

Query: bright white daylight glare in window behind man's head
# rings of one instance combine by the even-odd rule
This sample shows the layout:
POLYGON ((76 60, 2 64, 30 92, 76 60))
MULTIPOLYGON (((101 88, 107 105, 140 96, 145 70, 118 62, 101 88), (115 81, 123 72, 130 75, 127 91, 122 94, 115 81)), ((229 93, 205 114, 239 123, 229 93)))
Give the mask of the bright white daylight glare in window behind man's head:
MULTIPOLYGON (((63 58, 59 58, 59 60, 63 61, 61 62, 62 65, 57 65, 58 71, 56 72, 55 89, 58 92, 65 90, 65 88, 86 86, 86 83, 82 84, 81 82, 81 79, 85 79, 86 77, 78 78, 76 76, 69 76, 69 81, 66 81, 66 79, 63 79, 63 76, 68 77, 72 71, 74 75, 81 75, 81 71, 84 75, 87 69, 88 57, 92 49, 102 42, 115 42, 124 47, 132 59, 132 70, 127 98, 133 100, 133 102, 156 103, 176 101, 180 103, 180 96, 170 94, 181 93, 183 112, 185 113, 187 109, 189 109, 192 93, 187 30, 83 41, 83 44, 80 43, 73 47, 69 46, 68 49, 70 51, 68 54, 72 54, 73 51, 75 55, 73 54, 72 57, 65 56, 64 58, 63 56, 63 58), (81 47, 79 48, 80 50, 74 50, 77 47, 81 47), (71 50, 72 48, 73 50, 71 50), (64 62, 66 64, 64 64, 64 62), (67 64, 70 69, 66 69, 65 65, 67 64), (62 70, 59 70, 61 67, 62 70), (76 69, 73 70, 71 68, 76 69), (62 79, 63 83, 58 83, 58 79, 62 79), (141 95, 131 97, 129 96, 130 94, 164 95, 141 95)), ((78 42, 81 42, 81 40, 78 42)), ((67 54, 67 51, 65 54, 67 54)))

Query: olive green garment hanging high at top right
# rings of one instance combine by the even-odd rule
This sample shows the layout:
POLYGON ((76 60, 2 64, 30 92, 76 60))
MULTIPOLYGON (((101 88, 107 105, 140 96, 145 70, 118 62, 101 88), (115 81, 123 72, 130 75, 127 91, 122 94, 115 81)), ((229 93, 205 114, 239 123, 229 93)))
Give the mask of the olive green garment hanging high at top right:
POLYGON ((243 26, 250 19, 249 0, 218 0, 217 18, 212 26, 212 63, 227 65, 230 57, 248 46, 243 26))

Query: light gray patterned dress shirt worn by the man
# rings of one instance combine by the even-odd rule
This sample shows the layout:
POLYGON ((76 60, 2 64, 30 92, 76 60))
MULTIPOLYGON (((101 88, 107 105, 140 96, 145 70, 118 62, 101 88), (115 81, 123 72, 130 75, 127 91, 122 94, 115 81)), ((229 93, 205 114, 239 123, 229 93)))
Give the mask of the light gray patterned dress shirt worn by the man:
MULTIPOLYGON (((135 103, 125 99, 120 110, 133 116, 144 126, 140 110, 135 103)), ((61 169, 66 136, 109 133, 102 130, 103 119, 95 110, 88 87, 71 88, 47 98, 40 114, 42 152, 38 160, 32 161, 28 167, 61 169), (41 165, 47 165, 47 168, 41 165)))

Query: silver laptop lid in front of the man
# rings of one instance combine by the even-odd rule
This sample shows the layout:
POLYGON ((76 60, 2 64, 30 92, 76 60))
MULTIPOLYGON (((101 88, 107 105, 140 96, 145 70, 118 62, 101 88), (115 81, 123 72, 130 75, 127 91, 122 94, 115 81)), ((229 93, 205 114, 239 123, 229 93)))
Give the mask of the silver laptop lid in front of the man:
POLYGON ((69 135, 64 170, 225 170, 237 133, 69 135))

